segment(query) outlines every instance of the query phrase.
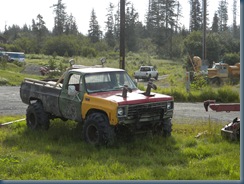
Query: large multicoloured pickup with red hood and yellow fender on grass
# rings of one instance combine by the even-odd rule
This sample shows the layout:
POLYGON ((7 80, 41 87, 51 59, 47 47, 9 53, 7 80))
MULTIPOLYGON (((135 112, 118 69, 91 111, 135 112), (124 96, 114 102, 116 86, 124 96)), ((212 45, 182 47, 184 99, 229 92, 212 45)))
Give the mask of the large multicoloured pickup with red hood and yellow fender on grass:
POLYGON ((125 70, 73 66, 55 80, 26 78, 20 97, 27 104, 26 123, 32 130, 48 129, 50 119, 74 120, 93 145, 113 144, 117 135, 152 131, 171 135, 174 99, 136 87, 125 70))

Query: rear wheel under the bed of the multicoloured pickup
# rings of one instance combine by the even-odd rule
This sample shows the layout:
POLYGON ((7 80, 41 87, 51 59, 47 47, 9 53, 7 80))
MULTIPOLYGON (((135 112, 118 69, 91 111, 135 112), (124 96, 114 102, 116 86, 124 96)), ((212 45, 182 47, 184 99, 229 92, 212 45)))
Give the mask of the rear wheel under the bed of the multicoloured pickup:
POLYGON ((49 128, 50 121, 41 103, 37 102, 28 106, 26 111, 26 123, 27 127, 32 130, 47 130, 49 128))

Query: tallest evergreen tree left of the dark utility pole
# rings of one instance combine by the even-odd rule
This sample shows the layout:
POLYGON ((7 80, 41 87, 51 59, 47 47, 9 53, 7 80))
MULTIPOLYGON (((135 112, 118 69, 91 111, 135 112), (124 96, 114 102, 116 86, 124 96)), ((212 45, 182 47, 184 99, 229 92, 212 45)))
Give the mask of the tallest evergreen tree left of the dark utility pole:
POLYGON ((66 6, 62 3, 62 0, 58 0, 57 4, 52 6, 54 8, 54 13, 56 16, 54 17, 54 35, 62 35, 65 30, 65 22, 67 19, 67 14, 65 12, 66 6))

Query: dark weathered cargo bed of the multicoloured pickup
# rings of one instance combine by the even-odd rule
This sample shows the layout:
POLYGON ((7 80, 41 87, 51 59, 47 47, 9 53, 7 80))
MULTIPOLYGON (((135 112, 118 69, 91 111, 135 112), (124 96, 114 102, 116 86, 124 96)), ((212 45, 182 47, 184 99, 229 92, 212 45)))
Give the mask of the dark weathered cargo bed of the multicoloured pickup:
POLYGON ((26 78, 20 86, 20 97, 25 104, 30 104, 32 100, 40 100, 46 112, 61 116, 59 96, 62 84, 57 86, 55 84, 55 80, 42 81, 26 78))

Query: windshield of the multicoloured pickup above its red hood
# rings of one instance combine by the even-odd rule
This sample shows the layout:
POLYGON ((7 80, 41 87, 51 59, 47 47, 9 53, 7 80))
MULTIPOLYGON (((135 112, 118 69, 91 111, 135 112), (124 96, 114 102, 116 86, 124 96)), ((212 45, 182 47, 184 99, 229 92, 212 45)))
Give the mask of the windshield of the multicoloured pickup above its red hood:
POLYGON ((126 72, 90 73, 85 75, 88 93, 122 90, 124 85, 137 89, 126 72))

